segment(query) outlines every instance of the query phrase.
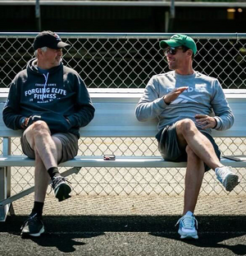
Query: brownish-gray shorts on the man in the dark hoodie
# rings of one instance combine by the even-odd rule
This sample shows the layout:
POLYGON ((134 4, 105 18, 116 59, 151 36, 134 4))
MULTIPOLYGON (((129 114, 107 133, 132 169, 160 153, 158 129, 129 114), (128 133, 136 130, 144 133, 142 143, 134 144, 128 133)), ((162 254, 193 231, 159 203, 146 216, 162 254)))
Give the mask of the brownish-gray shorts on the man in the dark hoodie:
MULTIPOLYGON (((52 137, 57 137, 62 142, 62 160, 59 163, 73 159, 79 150, 78 138, 72 133, 54 133, 52 137)), ((25 135, 21 137, 21 147, 25 156, 35 158, 34 150, 27 142, 25 135)))

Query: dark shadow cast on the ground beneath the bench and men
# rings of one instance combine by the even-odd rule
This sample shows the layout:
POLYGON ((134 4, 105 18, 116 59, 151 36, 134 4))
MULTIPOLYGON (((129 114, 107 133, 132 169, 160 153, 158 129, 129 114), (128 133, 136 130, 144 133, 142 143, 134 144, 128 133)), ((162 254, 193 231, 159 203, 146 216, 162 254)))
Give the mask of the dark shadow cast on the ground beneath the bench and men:
MULTIPOLYGON (((20 235, 20 227, 27 216, 8 216, 0 222, 1 233, 20 235)), ((176 221, 180 216, 44 216, 45 233, 29 238, 42 247, 55 247, 64 253, 84 245, 83 238, 105 235, 106 232, 146 232, 147 235, 180 240, 176 221), (77 239, 77 240, 76 240, 77 239)), ((245 216, 198 216, 199 240, 183 240, 198 248, 225 248, 237 255, 246 254, 246 244, 226 244, 225 240, 246 235, 245 216)))

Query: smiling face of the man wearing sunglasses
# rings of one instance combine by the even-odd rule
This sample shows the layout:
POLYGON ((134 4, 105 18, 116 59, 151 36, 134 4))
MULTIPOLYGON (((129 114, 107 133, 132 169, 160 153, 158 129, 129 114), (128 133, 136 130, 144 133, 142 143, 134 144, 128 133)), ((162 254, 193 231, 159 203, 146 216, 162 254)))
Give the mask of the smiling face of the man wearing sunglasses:
POLYGON ((168 47, 164 49, 164 55, 171 70, 183 68, 185 63, 185 53, 182 47, 168 47))

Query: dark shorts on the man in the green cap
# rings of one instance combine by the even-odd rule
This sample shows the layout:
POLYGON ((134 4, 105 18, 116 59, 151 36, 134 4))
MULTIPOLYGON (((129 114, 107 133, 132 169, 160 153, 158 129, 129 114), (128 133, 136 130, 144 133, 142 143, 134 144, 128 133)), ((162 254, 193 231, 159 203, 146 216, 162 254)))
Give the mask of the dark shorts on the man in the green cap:
MULTIPOLYGON (((219 147, 216 145, 216 142, 212 138, 211 135, 200 131, 203 133, 204 136, 208 138, 208 140, 212 143, 212 146, 216 152, 216 156, 218 159, 221 159, 221 151, 219 147)), ((187 154, 185 149, 180 149, 179 143, 177 140, 177 133, 176 133, 176 123, 171 125, 167 125, 166 128, 163 128, 159 133, 156 135, 158 141, 158 149, 166 161, 173 161, 173 162, 182 162, 187 161, 187 154)), ((210 170, 209 166, 205 165, 205 171, 210 170)))

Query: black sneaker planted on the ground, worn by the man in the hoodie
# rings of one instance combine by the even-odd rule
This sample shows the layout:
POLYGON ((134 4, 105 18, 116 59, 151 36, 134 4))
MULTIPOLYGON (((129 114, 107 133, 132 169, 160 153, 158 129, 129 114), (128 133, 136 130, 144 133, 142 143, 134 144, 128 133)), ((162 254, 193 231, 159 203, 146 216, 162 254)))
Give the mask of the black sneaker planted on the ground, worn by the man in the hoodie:
POLYGON ((42 217, 37 213, 30 215, 29 218, 21 226, 21 236, 31 235, 40 236, 44 232, 42 217))

